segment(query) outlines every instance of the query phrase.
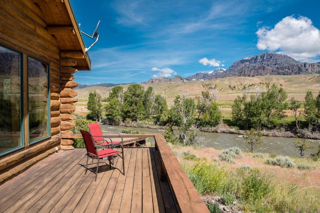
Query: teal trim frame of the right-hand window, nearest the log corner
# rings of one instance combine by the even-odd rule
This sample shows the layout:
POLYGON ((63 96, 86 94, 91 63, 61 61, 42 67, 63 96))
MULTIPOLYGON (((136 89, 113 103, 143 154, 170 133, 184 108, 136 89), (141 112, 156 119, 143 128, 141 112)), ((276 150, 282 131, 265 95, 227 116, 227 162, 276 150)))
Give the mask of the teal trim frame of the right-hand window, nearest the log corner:
MULTIPOLYGON (((30 141, 30 135, 28 134, 28 137, 29 137, 29 139, 28 139, 29 145, 32 145, 32 144, 35 144, 35 143, 37 143, 37 142, 40 142, 40 141, 46 140, 46 139, 48 139, 48 138, 51 138, 50 67, 49 67, 50 65, 49 65, 47 62, 45 62, 45 61, 42 61, 42 60, 40 60, 40 59, 38 59, 38 58, 29 56, 29 55, 28 55, 28 58, 35 59, 35 60, 40 61, 40 62, 42 62, 42 63, 44 63, 44 64, 47 65, 47 109, 48 109, 48 111, 47 111, 47 118, 48 118, 48 136, 39 138, 39 139, 37 139, 37 140, 35 140, 35 141, 30 141)), ((27 63, 28 63, 28 61, 27 61, 27 63)), ((28 67, 28 66, 27 66, 27 67, 28 67)), ((27 74, 28 74, 28 70, 27 70, 27 74)), ((29 76, 28 76, 28 85, 29 85, 29 76)), ((29 101, 29 87, 28 87, 28 94, 27 94, 27 95, 28 95, 28 101, 29 101)), ((29 103, 28 103, 28 131, 29 131, 29 103)))

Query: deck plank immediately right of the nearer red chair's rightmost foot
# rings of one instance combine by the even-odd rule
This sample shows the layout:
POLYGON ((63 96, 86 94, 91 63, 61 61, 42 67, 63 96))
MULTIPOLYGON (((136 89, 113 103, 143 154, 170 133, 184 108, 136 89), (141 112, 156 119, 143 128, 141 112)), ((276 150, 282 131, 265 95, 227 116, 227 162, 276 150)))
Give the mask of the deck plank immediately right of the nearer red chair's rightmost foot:
POLYGON ((137 159, 137 149, 132 148, 131 158, 130 158, 130 167, 127 170, 127 178, 124 184, 124 191, 121 199, 119 212, 130 212, 131 202, 132 202, 132 190, 133 190, 133 180, 136 168, 136 159, 137 159))

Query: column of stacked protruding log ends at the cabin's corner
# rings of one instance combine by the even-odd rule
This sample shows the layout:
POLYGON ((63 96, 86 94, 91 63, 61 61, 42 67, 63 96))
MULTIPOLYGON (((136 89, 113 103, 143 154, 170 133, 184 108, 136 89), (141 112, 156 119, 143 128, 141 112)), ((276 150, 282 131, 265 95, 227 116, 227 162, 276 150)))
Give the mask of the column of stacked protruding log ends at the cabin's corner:
MULTIPOLYGON (((72 58, 61 58, 61 74, 60 74, 60 128, 61 134, 73 134, 69 129, 75 127, 75 123, 72 122, 76 116, 72 115, 72 112, 76 110, 73 103, 76 103, 78 99, 75 98, 77 92, 74 90, 78 86, 75 78, 72 74, 77 72, 73 66, 76 66, 76 60, 72 58)), ((73 139, 62 139, 61 149, 73 149, 73 139)))

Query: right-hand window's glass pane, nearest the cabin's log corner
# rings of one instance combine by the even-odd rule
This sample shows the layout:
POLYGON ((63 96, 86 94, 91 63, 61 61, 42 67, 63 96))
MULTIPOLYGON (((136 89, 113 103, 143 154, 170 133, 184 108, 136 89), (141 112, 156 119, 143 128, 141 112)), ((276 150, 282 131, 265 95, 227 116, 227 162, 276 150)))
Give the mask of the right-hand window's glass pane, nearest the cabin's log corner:
POLYGON ((47 70, 47 64, 28 57, 29 143, 49 135, 47 70))

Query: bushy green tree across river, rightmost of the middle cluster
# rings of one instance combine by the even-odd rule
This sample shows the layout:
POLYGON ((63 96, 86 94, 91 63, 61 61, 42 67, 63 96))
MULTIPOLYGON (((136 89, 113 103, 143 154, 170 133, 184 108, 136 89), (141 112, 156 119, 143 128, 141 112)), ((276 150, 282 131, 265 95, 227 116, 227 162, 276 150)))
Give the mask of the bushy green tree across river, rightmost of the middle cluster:
POLYGON ((215 101, 210 101, 208 111, 200 117, 200 124, 202 126, 217 126, 221 122, 222 114, 219 105, 215 101))

